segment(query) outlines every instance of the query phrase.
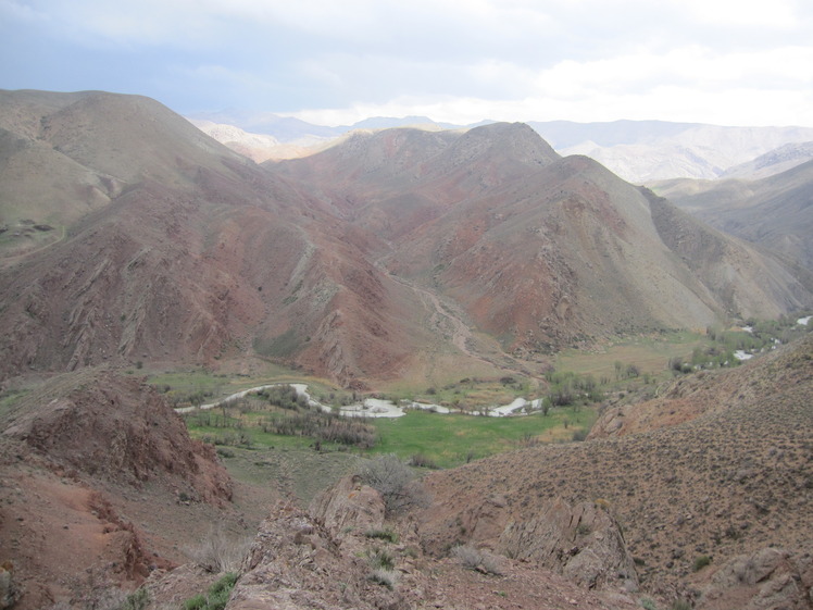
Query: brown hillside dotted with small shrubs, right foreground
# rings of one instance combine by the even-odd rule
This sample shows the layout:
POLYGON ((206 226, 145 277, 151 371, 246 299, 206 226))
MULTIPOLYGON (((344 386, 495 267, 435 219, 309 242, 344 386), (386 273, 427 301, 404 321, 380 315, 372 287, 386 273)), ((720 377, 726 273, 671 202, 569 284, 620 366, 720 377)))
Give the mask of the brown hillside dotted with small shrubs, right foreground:
POLYGON ((598 503, 623 526, 641 587, 666 599, 702 588, 736 556, 768 546, 810 549, 813 337, 693 384, 645 403, 640 416, 630 413, 638 426, 625 436, 431 474, 425 544, 441 550, 474 539, 504 552, 511 528, 558 499, 598 503), (690 414, 680 416, 684 410, 690 414), (685 421, 656 427, 670 419, 685 421), (695 573, 700 556, 712 565, 695 573))

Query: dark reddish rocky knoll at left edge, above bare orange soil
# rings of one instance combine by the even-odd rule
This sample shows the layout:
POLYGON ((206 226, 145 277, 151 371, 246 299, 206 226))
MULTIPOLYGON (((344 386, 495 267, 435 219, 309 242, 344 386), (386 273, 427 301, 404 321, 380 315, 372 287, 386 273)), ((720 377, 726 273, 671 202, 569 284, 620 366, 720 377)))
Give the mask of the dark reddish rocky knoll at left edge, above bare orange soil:
POLYGON ((27 397, 3 434, 64 468, 140 486, 161 481, 220 503, 232 480, 211 446, 189 438, 154 388, 110 371, 63 375, 27 397))

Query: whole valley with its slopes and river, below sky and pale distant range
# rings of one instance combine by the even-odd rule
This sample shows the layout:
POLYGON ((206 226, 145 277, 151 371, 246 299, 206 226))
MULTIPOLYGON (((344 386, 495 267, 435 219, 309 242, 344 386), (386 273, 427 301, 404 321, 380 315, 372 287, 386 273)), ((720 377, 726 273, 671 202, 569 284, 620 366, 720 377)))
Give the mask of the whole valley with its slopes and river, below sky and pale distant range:
POLYGON ((0 607, 809 610, 810 162, 538 128, 0 91, 0 607))

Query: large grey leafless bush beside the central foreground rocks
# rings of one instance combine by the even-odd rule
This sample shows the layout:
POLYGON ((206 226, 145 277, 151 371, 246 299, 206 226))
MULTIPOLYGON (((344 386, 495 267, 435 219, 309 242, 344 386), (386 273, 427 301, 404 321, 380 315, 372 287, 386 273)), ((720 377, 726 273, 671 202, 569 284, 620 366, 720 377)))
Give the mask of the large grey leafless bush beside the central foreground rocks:
POLYGON ((378 490, 390 514, 428 503, 426 491, 414 481, 410 468, 393 453, 366 460, 359 474, 366 485, 378 490))

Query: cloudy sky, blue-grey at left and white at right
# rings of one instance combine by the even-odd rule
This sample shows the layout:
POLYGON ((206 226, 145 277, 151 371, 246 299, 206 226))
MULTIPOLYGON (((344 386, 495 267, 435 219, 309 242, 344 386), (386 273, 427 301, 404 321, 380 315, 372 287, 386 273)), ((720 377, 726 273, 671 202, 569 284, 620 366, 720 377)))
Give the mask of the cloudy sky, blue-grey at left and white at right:
POLYGON ((813 127, 810 0, 0 0, 0 88, 338 125, 813 127))

